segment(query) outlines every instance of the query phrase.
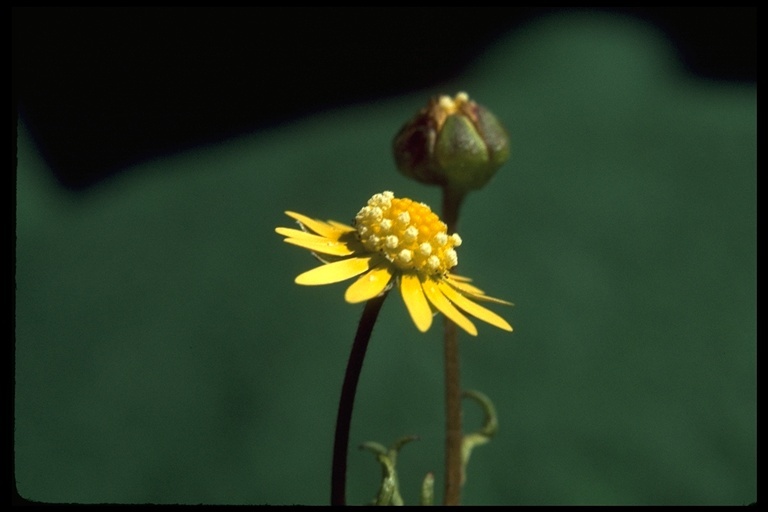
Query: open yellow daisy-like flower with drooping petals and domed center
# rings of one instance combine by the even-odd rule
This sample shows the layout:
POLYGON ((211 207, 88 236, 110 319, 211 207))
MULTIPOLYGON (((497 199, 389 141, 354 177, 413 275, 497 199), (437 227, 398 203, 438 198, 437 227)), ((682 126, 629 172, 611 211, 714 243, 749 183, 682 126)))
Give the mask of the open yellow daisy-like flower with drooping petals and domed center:
POLYGON ((347 288, 347 302, 364 302, 396 285, 421 332, 432 325, 432 308, 472 336, 477 329, 464 313, 512 331, 506 320, 474 301, 509 302, 489 297, 470 279, 450 273, 458 263, 455 248, 461 238, 449 235, 445 223, 424 203, 396 198, 392 192, 375 194, 355 216, 354 226, 285 213, 302 229, 275 231, 325 263, 297 276, 296 283, 330 284, 360 276, 347 288))

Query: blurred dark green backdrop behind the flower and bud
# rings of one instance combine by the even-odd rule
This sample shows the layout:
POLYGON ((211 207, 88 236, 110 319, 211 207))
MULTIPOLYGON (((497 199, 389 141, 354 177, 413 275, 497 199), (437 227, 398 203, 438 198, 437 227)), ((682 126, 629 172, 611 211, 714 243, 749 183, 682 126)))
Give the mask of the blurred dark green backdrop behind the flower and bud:
MULTIPOLYGON (((325 504, 337 399, 362 311, 284 210, 351 220, 393 190, 390 141, 435 92, 467 91, 513 154, 471 195, 461 273, 514 326, 462 338, 463 386, 500 432, 465 504, 756 500, 756 90, 693 78, 660 33, 560 15, 500 39, 441 91, 317 114, 158 158, 75 194, 19 124, 14 469, 29 500, 325 504)), ((94 148, 95 151, 98 148, 94 148)), ((442 495, 442 351, 384 305, 351 433, 350 503, 377 490, 354 446, 442 495)), ((480 412, 466 403, 467 429, 480 412)))

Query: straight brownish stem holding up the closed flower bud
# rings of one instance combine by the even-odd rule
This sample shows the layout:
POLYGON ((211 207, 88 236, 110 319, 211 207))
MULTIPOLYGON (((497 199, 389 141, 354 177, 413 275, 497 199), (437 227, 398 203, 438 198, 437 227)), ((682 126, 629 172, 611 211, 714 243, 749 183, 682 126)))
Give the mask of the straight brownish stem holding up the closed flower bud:
MULTIPOLYGON (((443 220, 448 233, 455 233, 463 192, 443 188, 443 220)), ((461 503, 461 384, 459 375, 459 339, 456 324, 444 320, 445 358, 445 505, 461 503)))

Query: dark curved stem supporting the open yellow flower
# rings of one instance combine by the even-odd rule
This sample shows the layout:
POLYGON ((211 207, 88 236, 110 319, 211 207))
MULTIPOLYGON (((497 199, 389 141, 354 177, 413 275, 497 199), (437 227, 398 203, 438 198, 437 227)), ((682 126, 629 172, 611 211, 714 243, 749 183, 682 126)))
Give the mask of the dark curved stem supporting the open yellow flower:
POLYGON ((349 429, 352 423, 352 409, 355 405, 357 382, 363 368, 368 341, 373 325, 384 304, 386 292, 365 303, 363 315, 355 333, 352 351, 349 353, 344 384, 341 387, 339 411, 336 416, 336 434, 333 440, 333 466, 331 468, 331 505, 347 504, 347 452, 349 451, 349 429))

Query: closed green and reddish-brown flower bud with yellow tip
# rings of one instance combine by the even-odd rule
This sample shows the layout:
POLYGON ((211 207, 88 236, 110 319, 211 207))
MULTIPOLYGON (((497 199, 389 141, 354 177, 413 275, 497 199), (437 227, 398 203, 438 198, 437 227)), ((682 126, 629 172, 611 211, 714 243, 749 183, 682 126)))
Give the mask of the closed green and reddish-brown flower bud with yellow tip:
POLYGON ((509 158, 509 137, 467 93, 434 97, 393 142, 395 163, 422 183, 466 192, 481 188, 509 158))

